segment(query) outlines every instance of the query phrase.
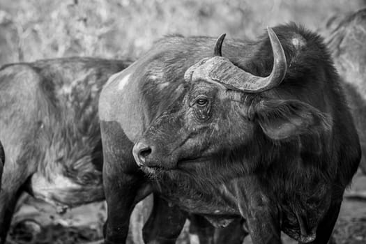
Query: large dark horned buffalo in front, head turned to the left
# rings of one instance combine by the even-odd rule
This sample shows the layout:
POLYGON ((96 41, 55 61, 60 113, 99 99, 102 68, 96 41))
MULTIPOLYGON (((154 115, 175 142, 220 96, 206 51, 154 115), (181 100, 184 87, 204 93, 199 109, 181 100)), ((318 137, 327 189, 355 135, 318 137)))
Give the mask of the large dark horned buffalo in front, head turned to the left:
POLYGON ((163 38, 102 89, 105 243, 125 242, 149 192, 146 242, 174 242, 195 213, 245 220, 255 244, 327 243, 360 144, 323 40, 295 24, 223 39, 163 38))

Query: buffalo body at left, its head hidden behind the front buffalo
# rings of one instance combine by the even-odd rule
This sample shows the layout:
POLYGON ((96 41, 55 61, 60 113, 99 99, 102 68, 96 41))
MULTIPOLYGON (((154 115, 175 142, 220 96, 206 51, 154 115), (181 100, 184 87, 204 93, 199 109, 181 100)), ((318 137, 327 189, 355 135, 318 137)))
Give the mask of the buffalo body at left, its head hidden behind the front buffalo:
POLYGON ((65 208, 104 199, 98 97, 132 61, 49 59, 0 68, 0 243, 24 191, 65 208), (0 151, 3 161, 3 153, 0 151))

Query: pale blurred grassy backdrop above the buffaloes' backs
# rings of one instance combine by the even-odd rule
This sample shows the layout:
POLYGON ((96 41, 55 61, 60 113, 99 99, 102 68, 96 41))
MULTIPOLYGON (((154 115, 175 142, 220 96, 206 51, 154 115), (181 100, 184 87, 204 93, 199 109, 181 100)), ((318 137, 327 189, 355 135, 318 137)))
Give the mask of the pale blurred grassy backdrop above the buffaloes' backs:
POLYGON ((365 0, 1 0, 0 65, 63 56, 136 57, 171 33, 255 38, 266 26, 321 28, 365 0))

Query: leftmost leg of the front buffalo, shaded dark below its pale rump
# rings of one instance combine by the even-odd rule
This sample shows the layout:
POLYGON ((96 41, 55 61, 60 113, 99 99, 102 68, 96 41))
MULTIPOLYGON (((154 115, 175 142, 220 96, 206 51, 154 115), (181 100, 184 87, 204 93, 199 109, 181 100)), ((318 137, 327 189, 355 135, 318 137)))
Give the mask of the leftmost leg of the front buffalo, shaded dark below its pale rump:
POLYGON ((125 243, 130 215, 144 178, 132 158, 132 142, 114 122, 101 121, 103 187, 107 201, 105 243, 125 243))

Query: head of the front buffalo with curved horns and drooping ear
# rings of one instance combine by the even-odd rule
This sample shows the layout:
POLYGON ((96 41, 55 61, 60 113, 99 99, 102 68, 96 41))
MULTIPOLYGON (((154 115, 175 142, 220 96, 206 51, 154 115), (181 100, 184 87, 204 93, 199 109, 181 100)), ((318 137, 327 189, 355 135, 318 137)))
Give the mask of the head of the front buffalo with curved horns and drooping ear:
POLYGON ((181 96, 135 144, 137 164, 169 171, 238 160, 255 167, 264 160, 264 150, 270 150, 264 148, 266 141, 291 140, 329 128, 317 108, 276 95, 287 61, 275 32, 268 28, 268 35, 273 68, 267 77, 252 75, 223 57, 224 35, 220 36, 213 56, 186 70, 181 96))

